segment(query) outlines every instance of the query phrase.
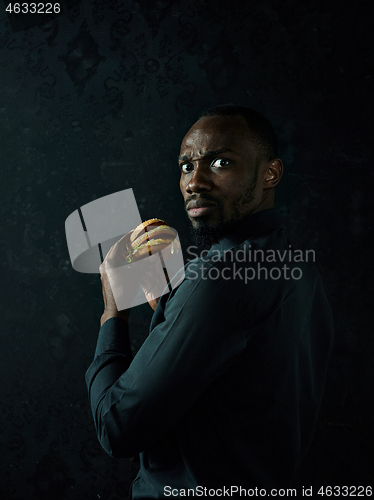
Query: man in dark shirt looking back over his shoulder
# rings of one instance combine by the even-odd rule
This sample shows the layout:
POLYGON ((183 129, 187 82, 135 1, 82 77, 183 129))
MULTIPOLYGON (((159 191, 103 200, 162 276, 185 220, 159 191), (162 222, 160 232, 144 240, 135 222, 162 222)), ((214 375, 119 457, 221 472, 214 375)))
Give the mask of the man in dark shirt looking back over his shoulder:
POLYGON ((283 165, 264 117, 209 110, 179 165, 196 240, 212 246, 161 297, 134 358, 129 311, 117 311, 101 267, 86 375, 98 437, 114 457, 140 453, 134 499, 274 494, 312 440, 332 344, 326 293, 273 209, 283 165))

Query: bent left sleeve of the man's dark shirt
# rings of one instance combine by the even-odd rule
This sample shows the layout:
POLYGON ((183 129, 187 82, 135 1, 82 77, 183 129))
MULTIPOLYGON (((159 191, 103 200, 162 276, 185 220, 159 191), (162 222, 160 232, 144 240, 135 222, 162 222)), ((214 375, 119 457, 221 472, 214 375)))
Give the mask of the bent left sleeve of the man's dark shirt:
POLYGON ((208 269, 195 279, 186 274, 133 359, 125 322, 103 324, 86 381, 97 434, 110 455, 133 456, 156 444, 245 349, 248 294, 240 280, 220 272, 208 278, 208 269))

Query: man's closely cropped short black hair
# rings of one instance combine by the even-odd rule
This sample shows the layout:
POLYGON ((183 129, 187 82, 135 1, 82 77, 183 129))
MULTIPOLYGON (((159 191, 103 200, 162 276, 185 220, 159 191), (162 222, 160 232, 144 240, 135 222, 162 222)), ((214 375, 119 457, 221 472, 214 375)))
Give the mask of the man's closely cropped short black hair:
POLYGON ((255 146, 261 160, 272 160, 278 156, 277 136, 272 124, 267 118, 257 111, 246 106, 237 106, 236 104, 221 104, 213 106, 203 111, 200 118, 205 116, 242 116, 247 122, 248 127, 253 133, 252 143, 255 146))

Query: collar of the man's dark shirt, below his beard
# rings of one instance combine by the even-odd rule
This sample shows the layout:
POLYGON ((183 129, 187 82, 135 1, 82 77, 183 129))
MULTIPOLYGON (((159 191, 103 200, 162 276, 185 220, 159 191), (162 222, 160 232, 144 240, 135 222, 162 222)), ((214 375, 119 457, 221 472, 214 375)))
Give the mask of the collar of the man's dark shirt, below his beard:
POLYGON ((220 253, 226 252, 230 248, 240 245, 245 240, 268 234, 275 229, 283 227, 284 224, 277 209, 261 210, 261 212, 256 212, 246 217, 240 224, 235 226, 227 236, 210 248, 208 255, 217 251, 220 253))

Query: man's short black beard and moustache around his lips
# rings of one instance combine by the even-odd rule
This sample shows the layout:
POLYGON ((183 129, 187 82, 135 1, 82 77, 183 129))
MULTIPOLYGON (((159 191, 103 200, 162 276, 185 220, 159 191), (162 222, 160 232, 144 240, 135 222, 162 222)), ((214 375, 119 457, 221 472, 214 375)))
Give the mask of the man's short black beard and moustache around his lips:
MULTIPOLYGON (((252 184, 247 188, 244 193, 241 193, 233 200, 232 203, 232 216, 229 220, 225 220, 225 215, 223 211, 222 204, 208 196, 191 197, 188 202, 192 199, 201 199, 206 201, 214 201, 216 203, 216 210, 219 213, 218 221, 214 224, 209 223, 208 217, 201 216, 195 219, 197 222, 196 226, 190 225, 190 230, 192 237, 199 247, 208 248, 215 243, 220 242, 227 234, 229 234, 248 214, 248 208, 253 200, 253 191, 257 184, 256 177, 254 178, 252 184)), ((191 221, 190 221, 191 222, 191 221)))

